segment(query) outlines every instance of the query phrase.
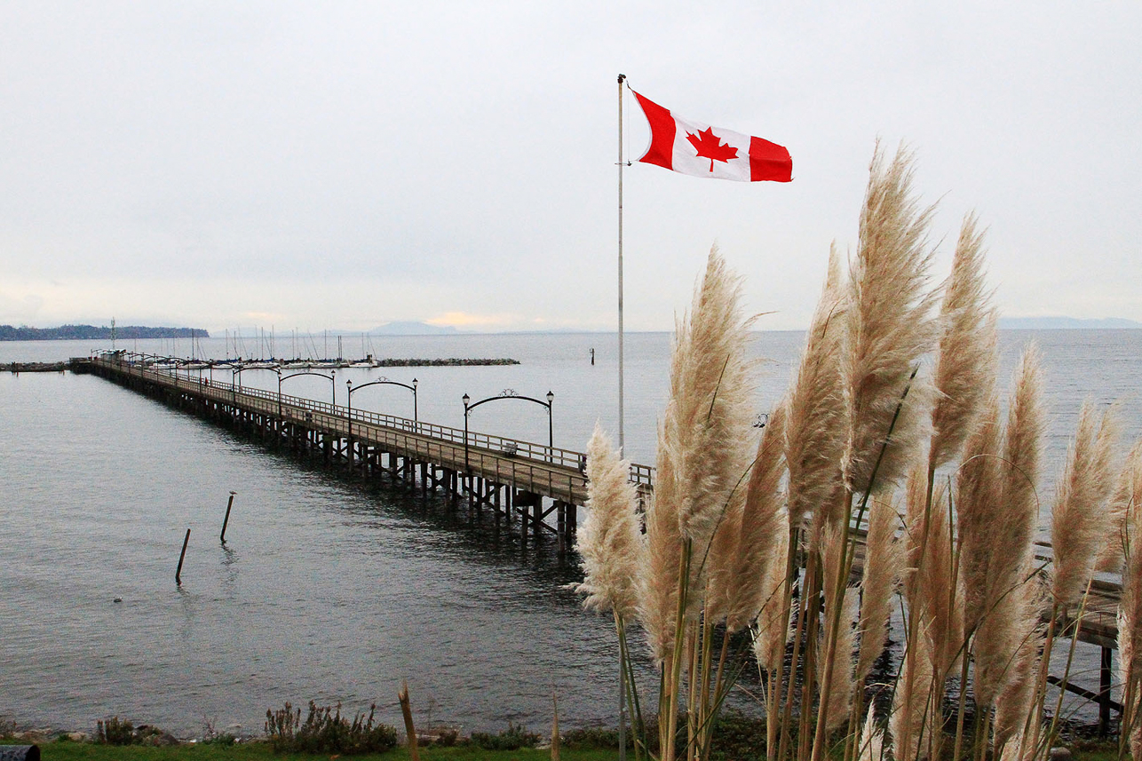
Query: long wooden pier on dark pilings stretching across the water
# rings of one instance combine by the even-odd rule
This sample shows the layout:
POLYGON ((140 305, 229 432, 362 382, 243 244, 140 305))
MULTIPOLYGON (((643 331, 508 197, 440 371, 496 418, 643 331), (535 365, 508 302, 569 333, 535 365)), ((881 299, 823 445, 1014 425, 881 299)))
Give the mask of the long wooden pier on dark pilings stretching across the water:
MULTIPOLYGON (((523 540, 547 531, 557 537, 561 551, 574 544, 579 508, 587 499, 582 452, 243 388, 201 375, 180 377, 169 369, 130 362, 122 353, 72 360, 71 367, 230 423, 272 447, 306 452, 365 476, 387 473, 418 484, 426 494, 442 490, 452 499, 467 500, 476 511, 486 507, 507 518, 508 523, 518 516, 523 540)), ((643 492, 653 490, 653 468, 632 465, 630 478, 643 492)), ((856 578, 862 550, 853 568, 856 578)), ((1040 542, 1036 554, 1040 563, 1049 562, 1049 544, 1040 542)), ((1119 579, 1092 582, 1077 633, 1081 642, 1101 649, 1099 690, 1065 686, 1099 704, 1103 727, 1111 708, 1120 711, 1110 699, 1111 651, 1118 647, 1120 598, 1119 579)), ((1044 617, 1048 616, 1049 611, 1045 611, 1044 617)), ((1073 627, 1075 620, 1064 617, 1060 624, 1073 627)))

